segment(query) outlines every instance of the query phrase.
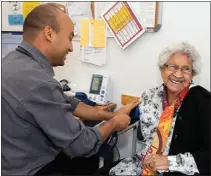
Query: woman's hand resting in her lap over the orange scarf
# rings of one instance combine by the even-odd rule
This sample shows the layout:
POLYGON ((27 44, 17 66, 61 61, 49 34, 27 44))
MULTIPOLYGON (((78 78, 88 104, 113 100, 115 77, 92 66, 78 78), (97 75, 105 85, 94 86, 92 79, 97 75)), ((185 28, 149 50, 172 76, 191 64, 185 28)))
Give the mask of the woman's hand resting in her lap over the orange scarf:
POLYGON ((144 159, 143 168, 153 171, 168 170, 168 156, 151 154, 144 159))

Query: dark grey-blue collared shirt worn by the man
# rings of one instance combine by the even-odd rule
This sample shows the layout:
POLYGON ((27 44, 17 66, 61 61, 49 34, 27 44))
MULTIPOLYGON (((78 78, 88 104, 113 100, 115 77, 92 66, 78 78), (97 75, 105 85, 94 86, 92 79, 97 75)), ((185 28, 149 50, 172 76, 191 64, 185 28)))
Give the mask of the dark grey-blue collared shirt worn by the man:
POLYGON ((26 41, 2 60, 2 175, 33 175, 60 151, 73 158, 99 150, 99 131, 74 118, 79 100, 53 76, 47 57, 26 41))

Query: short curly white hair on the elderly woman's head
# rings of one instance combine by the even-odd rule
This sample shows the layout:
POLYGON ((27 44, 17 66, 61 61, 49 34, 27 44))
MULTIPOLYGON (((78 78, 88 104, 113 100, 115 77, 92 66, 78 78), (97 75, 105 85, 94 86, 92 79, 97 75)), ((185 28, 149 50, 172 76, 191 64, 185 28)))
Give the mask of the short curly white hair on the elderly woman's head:
POLYGON ((201 56, 193 45, 187 42, 180 42, 168 46, 162 50, 158 57, 158 66, 162 68, 172 55, 181 53, 187 55, 193 64, 193 75, 197 75, 201 69, 201 56))

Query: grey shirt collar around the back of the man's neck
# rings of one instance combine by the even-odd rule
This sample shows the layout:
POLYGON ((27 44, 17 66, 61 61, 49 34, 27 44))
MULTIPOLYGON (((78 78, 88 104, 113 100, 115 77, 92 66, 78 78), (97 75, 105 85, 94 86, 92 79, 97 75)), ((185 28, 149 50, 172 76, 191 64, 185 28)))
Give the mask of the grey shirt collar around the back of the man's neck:
POLYGON ((50 64, 48 58, 35 46, 25 40, 23 40, 19 46, 30 53, 33 56, 33 59, 35 59, 47 71, 48 74, 54 76, 53 67, 50 64))

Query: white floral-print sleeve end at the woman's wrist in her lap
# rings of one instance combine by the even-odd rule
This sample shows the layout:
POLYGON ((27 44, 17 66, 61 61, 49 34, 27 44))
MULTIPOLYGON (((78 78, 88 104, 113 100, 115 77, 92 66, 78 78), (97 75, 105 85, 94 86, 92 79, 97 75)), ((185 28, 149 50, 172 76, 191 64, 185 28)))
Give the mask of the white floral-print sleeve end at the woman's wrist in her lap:
POLYGON ((191 153, 168 156, 170 172, 181 172, 186 175, 199 173, 196 162, 191 153))

